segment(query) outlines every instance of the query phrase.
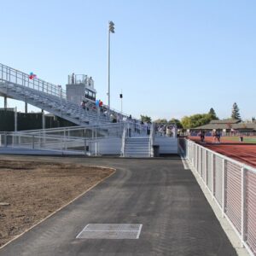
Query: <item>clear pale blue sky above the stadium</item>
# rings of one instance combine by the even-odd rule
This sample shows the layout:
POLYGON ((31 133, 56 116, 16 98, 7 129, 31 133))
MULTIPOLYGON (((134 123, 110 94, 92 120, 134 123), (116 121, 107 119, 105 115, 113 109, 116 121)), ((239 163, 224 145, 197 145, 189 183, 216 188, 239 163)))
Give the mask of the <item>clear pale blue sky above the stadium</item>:
MULTIPOLYGON (((67 74, 88 74, 107 103, 113 20, 113 108, 123 90, 124 112, 137 117, 214 108, 229 118, 234 102, 242 119, 256 115, 255 0, 0 0, 0 7, 0 63, 63 88, 67 74)), ((24 104, 9 101, 14 106, 24 104)))

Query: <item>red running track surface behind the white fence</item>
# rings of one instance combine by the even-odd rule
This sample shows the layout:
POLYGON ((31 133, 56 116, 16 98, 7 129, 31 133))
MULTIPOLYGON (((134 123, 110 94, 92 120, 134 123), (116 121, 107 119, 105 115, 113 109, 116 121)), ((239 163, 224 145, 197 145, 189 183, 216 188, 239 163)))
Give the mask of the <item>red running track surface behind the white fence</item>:
POLYGON ((206 137, 205 143, 200 142, 200 137, 189 137, 189 139, 219 154, 256 167, 256 144, 230 142, 224 138, 221 138, 221 143, 214 143, 213 137, 206 137))

